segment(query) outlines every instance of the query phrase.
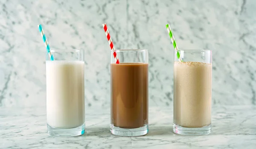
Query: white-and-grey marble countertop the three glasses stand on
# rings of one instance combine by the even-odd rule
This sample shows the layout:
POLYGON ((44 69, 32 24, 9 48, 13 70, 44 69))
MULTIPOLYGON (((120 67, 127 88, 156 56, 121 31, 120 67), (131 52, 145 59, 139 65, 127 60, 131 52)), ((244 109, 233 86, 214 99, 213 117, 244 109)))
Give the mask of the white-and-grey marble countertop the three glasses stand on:
POLYGON ((172 108, 149 108, 149 133, 119 137, 110 133, 109 109, 86 109, 86 133, 73 138, 55 138, 46 132, 46 108, 0 108, 0 148, 255 149, 256 106, 213 106, 212 133, 182 136, 172 132, 172 108))

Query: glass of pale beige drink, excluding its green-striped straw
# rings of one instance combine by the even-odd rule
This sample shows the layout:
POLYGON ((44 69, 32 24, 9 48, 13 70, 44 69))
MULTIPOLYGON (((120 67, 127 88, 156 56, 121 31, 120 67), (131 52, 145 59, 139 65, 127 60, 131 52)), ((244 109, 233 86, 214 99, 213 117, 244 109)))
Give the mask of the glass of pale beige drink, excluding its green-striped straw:
POLYGON ((208 135, 211 132, 212 51, 175 50, 173 69, 173 131, 180 135, 208 135))

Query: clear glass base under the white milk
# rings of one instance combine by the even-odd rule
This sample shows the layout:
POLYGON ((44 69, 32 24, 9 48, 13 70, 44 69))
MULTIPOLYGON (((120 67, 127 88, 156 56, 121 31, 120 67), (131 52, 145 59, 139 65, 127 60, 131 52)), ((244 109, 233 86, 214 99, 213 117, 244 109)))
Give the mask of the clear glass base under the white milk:
POLYGON ((70 128, 70 129, 60 129, 60 128, 54 128, 47 124, 47 132, 51 136, 55 137, 74 137, 83 135, 85 131, 85 123, 81 126, 78 126, 76 128, 70 128))

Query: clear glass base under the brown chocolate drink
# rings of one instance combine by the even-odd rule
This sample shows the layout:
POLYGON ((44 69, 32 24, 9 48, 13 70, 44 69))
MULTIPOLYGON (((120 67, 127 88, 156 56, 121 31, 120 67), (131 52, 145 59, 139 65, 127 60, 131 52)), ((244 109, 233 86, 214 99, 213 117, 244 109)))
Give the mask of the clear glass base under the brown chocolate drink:
POLYGON ((113 124, 110 127, 110 132, 113 135, 119 135, 119 136, 125 136, 125 137, 135 137, 135 136, 141 136, 146 135, 148 133, 148 124, 144 125, 140 128, 133 128, 133 129, 126 129, 126 128, 120 128, 113 126, 113 124))

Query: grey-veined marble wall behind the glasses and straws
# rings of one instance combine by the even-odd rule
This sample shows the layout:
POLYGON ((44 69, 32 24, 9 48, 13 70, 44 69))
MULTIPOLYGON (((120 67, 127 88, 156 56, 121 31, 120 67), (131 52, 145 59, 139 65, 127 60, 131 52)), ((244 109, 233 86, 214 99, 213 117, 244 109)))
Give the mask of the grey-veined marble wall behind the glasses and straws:
POLYGON ((87 107, 109 107, 110 49, 149 49, 149 105, 172 106, 173 48, 212 49, 212 103, 256 104, 255 0, 0 0, 0 107, 45 106, 45 47, 84 49, 87 107))

